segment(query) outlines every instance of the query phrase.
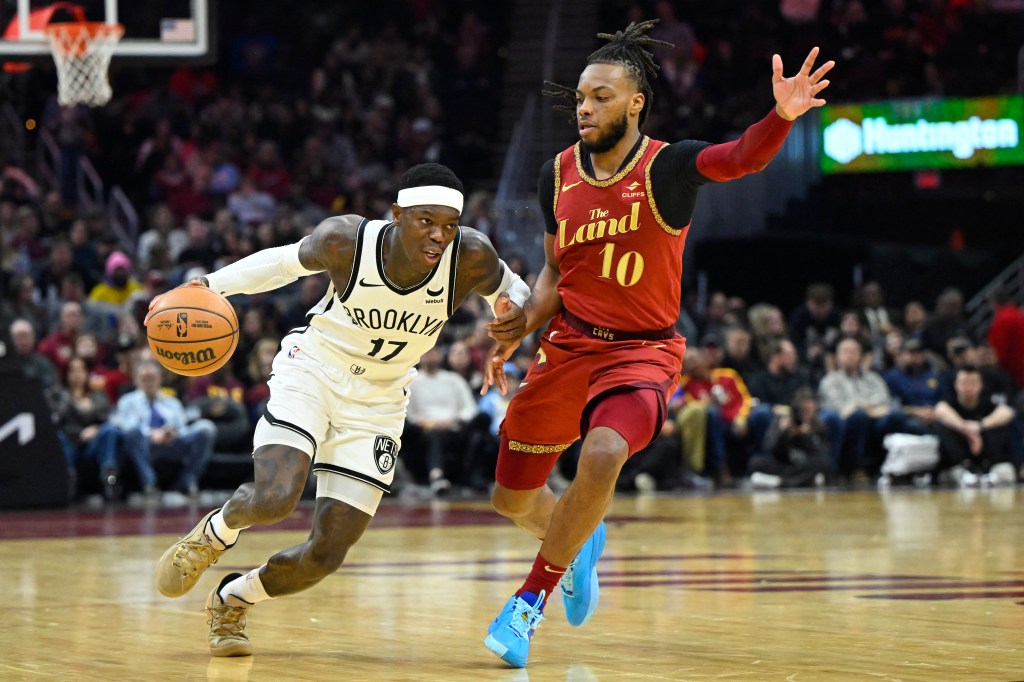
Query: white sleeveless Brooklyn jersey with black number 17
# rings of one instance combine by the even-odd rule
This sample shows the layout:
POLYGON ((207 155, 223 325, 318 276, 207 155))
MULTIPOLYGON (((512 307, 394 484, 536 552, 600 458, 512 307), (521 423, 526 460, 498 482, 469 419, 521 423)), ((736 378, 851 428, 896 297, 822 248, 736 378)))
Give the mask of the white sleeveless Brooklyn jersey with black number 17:
POLYGON ((359 224, 347 286, 339 290, 332 283, 310 308, 307 327, 293 330, 283 347, 301 335, 303 351, 338 370, 370 381, 412 380, 414 366, 452 315, 462 232, 423 282, 403 288, 388 280, 381 255, 384 239, 395 228, 385 220, 359 224))

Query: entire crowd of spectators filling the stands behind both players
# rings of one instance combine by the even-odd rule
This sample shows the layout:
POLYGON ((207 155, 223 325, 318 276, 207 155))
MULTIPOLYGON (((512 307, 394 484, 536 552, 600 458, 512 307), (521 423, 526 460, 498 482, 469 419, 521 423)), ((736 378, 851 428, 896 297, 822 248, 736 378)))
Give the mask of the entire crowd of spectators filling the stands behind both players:
MULTIPOLYGON (((233 299, 241 330, 231 363, 190 380, 152 363, 141 321, 155 295, 295 242, 328 215, 383 217, 397 177, 413 164, 445 163, 470 188, 493 175, 481 164, 494 134, 486 110, 497 98, 507 17, 441 0, 398 4, 409 20, 345 23, 351 10, 297 7, 304 26, 274 27, 256 10, 237 19, 214 67, 182 67, 145 83, 115 71, 118 95, 102 110, 61 108, 51 98, 39 118, 66 171, 52 187, 0 150, 0 324, 24 372, 46 389, 69 468, 88 472, 88 480, 73 476, 80 488, 98 485, 111 499, 125 486, 195 494, 215 453, 248 453, 280 340, 327 281, 310 276, 233 299), (328 35, 324 26, 346 29, 328 35), (303 40, 323 49, 302 50, 295 60, 303 40), (132 243, 112 235, 103 213, 83 208, 69 179, 70 164, 83 155, 139 210, 141 233, 132 243)), ((687 137, 719 139, 749 124, 760 105, 751 84, 763 75, 762 52, 783 42, 795 52, 803 42, 842 45, 844 59, 858 65, 847 69, 876 73, 887 95, 946 85, 971 94, 982 85, 964 75, 964 65, 944 69, 941 83, 907 70, 958 61, 968 44, 980 50, 1013 25, 986 18, 985 2, 782 2, 777 14, 745 8, 738 16, 727 3, 701 3, 685 11, 692 25, 676 18, 689 4, 628 8, 631 18, 656 13, 657 37, 677 45, 658 54, 655 134, 675 122, 687 137), (860 15, 867 18, 855 20, 860 15), (866 20, 870 31, 851 28, 866 20), (904 37, 927 36, 898 45, 928 58, 895 59, 886 50, 895 39, 877 44, 889 32, 874 28, 889 25, 904 37)), ((1001 87, 1001 54, 965 62, 997 67, 1000 80, 986 82, 986 92, 1001 87)), ((867 94, 857 78, 836 86, 846 96, 867 94)), ((487 206, 485 193, 473 193, 464 222, 500 247, 487 206)), ((503 256, 531 281, 522 258, 503 256)), ((881 475, 890 432, 939 438, 941 464, 930 473, 946 470, 965 484, 1016 477, 1024 317, 1005 295, 993 300, 991 345, 967 328, 955 290, 933 306, 908 301, 899 309, 886 305, 877 284, 845 310, 834 298, 827 284, 816 284, 793 311, 748 306, 721 292, 699 315, 681 310, 690 350, 680 389, 662 435, 625 470, 624 486, 707 488, 748 475, 766 486, 863 483, 881 475), (1013 465, 1010 477, 998 468, 1005 463, 1013 465)), ((511 394, 478 395, 488 314, 476 299, 457 311, 414 384, 401 479, 433 495, 482 492, 493 482, 511 394), (418 390, 431 399, 420 401, 418 390)), ((508 365, 511 392, 534 348, 524 344, 508 365)), ((560 473, 570 476, 571 453, 564 459, 560 473)))

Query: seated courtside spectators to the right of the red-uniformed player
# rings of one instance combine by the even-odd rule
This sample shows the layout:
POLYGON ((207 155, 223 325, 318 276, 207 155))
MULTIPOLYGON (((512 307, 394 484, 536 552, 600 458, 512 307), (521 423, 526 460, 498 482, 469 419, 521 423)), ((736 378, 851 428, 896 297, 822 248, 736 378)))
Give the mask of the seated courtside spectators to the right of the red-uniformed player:
POLYGON ((681 315, 697 341, 651 456, 622 483, 1013 484, 1024 463, 1024 312, 1002 289, 989 303, 993 323, 979 336, 952 288, 932 312, 886 305, 874 282, 843 310, 831 286, 812 284, 787 315, 715 293, 702 318, 681 315), (889 475, 891 443, 906 442, 890 434, 918 437, 932 460, 889 475))

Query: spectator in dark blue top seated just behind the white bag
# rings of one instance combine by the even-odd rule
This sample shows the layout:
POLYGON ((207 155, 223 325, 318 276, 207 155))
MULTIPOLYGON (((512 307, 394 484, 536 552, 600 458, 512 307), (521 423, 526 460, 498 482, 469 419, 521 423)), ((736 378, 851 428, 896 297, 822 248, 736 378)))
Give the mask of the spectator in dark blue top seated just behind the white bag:
POLYGON ((928 366, 925 344, 921 339, 903 342, 896 367, 885 374, 889 392, 903 411, 900 431, 931 433, 935 423, 935 406, 942 397, 939 375, 928 366))

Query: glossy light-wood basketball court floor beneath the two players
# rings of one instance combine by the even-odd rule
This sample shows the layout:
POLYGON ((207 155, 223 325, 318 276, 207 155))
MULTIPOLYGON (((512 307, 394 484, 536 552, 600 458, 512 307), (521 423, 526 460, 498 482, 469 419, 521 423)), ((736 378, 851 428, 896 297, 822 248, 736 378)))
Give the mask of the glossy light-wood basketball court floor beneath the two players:
POLYGON ((176 600, 154 560, 206 508, 0 515, 0 680, 1024 680, 1024 488, 622 497, 593 621, 528 668, 482 645, 537 543, 483 503, 386 505, 350 563, 211 658, 206 594, 301 541, 247 531, 176 600), (69 536, 69 537, 59 537, 69 536))

